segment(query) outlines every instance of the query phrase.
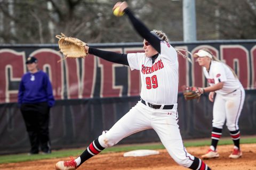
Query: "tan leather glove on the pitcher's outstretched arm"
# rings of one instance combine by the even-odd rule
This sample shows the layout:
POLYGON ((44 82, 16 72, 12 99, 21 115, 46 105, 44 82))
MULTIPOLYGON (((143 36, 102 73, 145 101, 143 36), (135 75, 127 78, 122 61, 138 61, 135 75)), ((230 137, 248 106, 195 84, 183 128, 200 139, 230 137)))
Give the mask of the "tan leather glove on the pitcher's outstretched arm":
POLYGON ((85 47, 87 46, 86 43, 83 41, 73 38, 73 37, 67 37, 63 33, 61 35, 55 36, 59 39, 59 48, 60 52, 63 53, 66 58, 84 58, 88 55, 88 52, 86 52, 85 47))

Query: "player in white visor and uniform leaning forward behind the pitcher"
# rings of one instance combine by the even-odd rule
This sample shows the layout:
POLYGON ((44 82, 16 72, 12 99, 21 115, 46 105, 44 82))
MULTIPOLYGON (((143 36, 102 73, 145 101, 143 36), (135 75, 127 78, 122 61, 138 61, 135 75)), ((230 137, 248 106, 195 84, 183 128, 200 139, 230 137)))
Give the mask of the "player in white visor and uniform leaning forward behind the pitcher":
POLYGON ((225 121, 234 141, 234 150, 229 158, 239 158, 242 156, 242 151, 239 147, 238 120, 244 104, 244 88, 235 72, 213 56, 209 49, 199 50, 198 53, 194 54, 194 57, 197 58, 198 64, 203 67, 205 78, 210 84, 210 87, 198 89, 201 93, 210 92, 209 100, 212 102, 214 100, 212 142, 210 149, 202 158, 219 157, 217 145, 225 121), (216 95, 215 98, 214 95, 216 95))

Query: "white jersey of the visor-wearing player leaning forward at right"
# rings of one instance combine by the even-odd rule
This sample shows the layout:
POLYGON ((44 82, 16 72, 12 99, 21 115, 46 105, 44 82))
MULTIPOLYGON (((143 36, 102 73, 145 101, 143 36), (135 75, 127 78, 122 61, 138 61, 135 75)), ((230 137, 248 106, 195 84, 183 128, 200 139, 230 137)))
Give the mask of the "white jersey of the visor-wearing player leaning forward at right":
POLYGON ((226 95, 242 87, 241 82, 224 63, 212 61, 209 72, 207 72, 205 67, 203 67, 203 72, 210 86, 219 82, 224 82, 222 89, 215 91, 218 94, 226 95))

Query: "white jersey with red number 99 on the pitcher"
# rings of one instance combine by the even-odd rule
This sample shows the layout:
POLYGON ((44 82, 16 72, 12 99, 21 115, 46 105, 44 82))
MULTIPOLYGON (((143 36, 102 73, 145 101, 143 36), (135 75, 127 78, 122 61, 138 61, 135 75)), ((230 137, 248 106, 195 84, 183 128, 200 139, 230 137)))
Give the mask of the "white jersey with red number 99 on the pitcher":
POLYGON ((161 54, 152 64, 152 58, 145 53, 127 54, 131 70, 139 70, 141 78, 141 98, 151 104, 173 105, 178 97, 178 58, 176 50, 161 41, 161 54))

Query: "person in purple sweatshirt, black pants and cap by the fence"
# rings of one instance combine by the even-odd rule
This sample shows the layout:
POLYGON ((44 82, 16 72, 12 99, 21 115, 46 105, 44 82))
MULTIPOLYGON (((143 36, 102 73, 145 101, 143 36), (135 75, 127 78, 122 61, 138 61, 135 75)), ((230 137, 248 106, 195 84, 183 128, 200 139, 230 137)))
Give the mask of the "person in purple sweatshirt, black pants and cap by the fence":
POLYGON ((31 149, 29 155, 51 153, 49 137, 50 108, 55 100, 48 75, 37 67, 38 60, 28 57, 28 72, 22 76, 18 103, 29 136, 31 149))

